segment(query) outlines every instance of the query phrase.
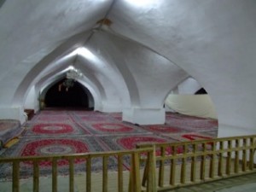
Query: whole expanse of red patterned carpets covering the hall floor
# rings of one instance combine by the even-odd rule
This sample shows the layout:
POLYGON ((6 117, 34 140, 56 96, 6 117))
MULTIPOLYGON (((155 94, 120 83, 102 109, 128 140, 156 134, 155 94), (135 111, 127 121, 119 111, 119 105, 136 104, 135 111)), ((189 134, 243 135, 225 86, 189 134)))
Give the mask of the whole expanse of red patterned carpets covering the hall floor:
MULTIPOLYGON (((178 113, 166 113, 165 125, 133 125, 122 122, 121 113, 93 111, 44 110, 23 125, 20 142, 7 148, 0 157, 76 154, 136 147, 137 143, 166 143, 217 137, 218 121, 178 113)), ((110 164, 116 159, 111 158, 110 164)), ((127 161, 128 162, 128 161, 127 161)), ((125 165, 128 165, 124 162, 125 165)), ((84 170, 83 160, 76 160, 76 171, 84 170)), ((101 170, 95 160, 92 169, 101 170)), ((50 163, 40 163, 41 174, 50 174, 50 163)), ((32 171, 31 162, 20 165, 20 176, 32 171)), ((67 174, 67 161, 58 161, 58 172, 67 174)), ((9 165, 0 165, 0 179, 10 176, 9 165)))

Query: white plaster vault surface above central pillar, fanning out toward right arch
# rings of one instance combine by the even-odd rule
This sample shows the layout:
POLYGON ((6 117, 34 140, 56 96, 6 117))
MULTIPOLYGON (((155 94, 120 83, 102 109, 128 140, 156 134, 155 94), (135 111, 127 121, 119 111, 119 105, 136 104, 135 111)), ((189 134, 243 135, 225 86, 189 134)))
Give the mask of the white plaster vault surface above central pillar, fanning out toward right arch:
MULTIPOLYGON (((141 44, 135 44, 112 34, 106 34, 105 37, 115 46, 115 49, 108 49, 108 51, 113 55, 122 55, 128 72, 132 75, 130 79, 135 80, 135 84, 131 86, 138 91, 137 108, 163 108, 167 93, 188 77, 181 68, 141 44), (119 52, 114 51, 116 49, 119 52)), ((117 63, 117 65, 123 64, 122 61, 117 63)), ((122 72, 123 76, 125 72, 122 72)))

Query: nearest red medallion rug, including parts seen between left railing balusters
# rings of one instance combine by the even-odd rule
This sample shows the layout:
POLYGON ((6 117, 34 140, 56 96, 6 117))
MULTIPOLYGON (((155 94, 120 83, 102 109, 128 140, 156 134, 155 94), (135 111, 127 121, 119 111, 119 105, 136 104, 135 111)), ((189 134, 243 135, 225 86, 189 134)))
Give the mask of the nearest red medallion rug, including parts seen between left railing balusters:
MULTIPOLYGON (((102 152, 105 149, 96 141, 94 137, 68 137, 57 139, 38 139, 28 138, 23 139, 20 143, 16 143, 14 148, 6 150, 2 157, 14 156, 41 156, 49 154, 81 154, 88 152, 102 152)), ((109 167, 116 165, 115 158, 109 158, 109 167)), ((75 162, 75 172, 84 172, 85 161, 77 159, 75 162)), ((61 175, 68 174, 68 161, 58 160, 58 172, 61 175)), ((20 163, 20 177, 32 176, 32 162, 25 161, 20 163)), ((40 174, 47 176, 51 174, 51 163, 49 161, 40 161, 40 174)), ((0 180, 10 179, 12 173, 12 166, 9 164, 0 165, 0 180)), ((92 171, 102 170, 102 160, 94 158, 92 161, 92 171)))

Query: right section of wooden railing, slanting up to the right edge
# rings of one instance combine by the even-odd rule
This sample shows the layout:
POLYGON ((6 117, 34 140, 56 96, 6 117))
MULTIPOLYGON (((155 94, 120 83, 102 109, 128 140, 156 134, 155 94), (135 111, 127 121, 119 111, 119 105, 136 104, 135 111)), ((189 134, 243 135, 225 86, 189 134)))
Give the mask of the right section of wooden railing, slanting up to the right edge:
MULTIPOLYGON (((256 135, 224 137, 182 143, 140 144, 137 148, 155 147, 157 191, 175 189, 256 172, 256 135)), ((146 161, 143 186, 151 163, 146 161)))

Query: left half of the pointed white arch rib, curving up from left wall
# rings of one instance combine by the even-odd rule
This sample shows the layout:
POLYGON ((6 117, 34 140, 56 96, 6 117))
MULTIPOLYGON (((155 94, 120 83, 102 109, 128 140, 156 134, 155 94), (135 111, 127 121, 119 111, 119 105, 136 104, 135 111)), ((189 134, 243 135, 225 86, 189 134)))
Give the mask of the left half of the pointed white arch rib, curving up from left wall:
POLYGON ((73 63, 75 55, 70 55, 73 49, 76 49, 78 42, 83 37, 88 37, 88 32, 75 35, 72 38, 66 39, 67 41, 56 49, 54 49, 49 55, 44 56, 41 61, 35 62, 36 65, 32 68, 27 68, 24 73, 24 77, 20 80, 19 86, 15 89, 15 96, 13 103, 15 105, 23 105, 27 91, 32 88, 34 84, 38 84, 38 81, 49 79, 50 76, 57 76, 63 67, 67 67, 70 63, 73 63))

